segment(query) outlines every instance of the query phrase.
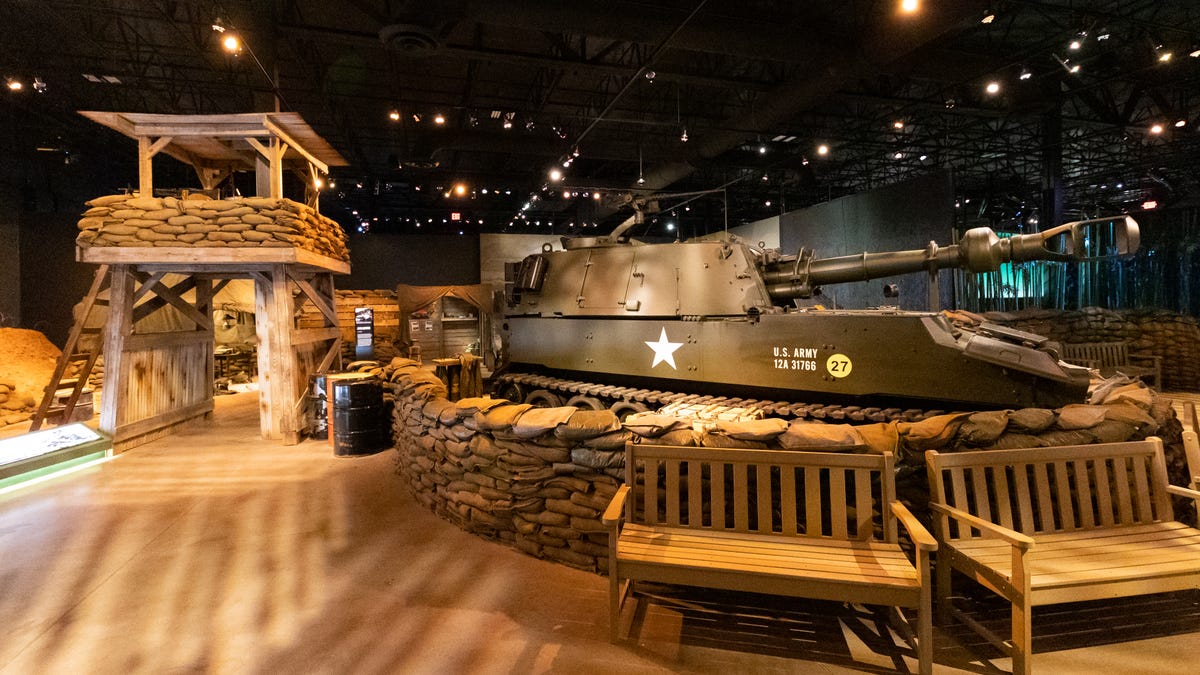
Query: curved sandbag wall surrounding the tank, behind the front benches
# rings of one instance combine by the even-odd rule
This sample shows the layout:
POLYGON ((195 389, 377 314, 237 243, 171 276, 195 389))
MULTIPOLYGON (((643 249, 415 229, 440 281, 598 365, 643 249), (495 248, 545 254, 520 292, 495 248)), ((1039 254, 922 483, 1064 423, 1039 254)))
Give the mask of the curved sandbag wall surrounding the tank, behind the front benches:
MULTIPOLYGON (((534 408, 503 399, 454 402, 431 371, 396 358, 382 369, 395 396, 397 473, 439 516, 532 556, 604 573, 608 534, 600 514, 624 478, 624 444, 732 448, 842 447, 893 450, 900 498, 928 522, 923 452, 1066 446, 1159 435, 1172 482, 1186 484, 1181 425, 1169 402, 1124 378, 1094 389, 1096 405, 941 416, 851 426, 761 419, 704 422, 646 413, 622 424, 611 411, 534 408)), ((1183 507, 1181 506, 1181 509, 1183 507)), ((1194 515, 1181 519, 1194 522, 1194 515)))

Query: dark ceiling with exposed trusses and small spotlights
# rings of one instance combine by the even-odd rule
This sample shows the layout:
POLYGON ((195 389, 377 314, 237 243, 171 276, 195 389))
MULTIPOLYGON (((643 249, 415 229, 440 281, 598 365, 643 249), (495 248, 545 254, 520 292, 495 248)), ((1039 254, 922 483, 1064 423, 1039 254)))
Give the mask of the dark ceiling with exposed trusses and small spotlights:
POLYGON ((937 169, 998 226, 1196 199, 1196 0, 899 6, 5 0, 0 68, 25 88, 0 113, 18 156, 132 160, 76 110, 277 102, 350 163, 323 210, 374 232, 604 229, 658 195, 648 229, 702 233, 937 169))

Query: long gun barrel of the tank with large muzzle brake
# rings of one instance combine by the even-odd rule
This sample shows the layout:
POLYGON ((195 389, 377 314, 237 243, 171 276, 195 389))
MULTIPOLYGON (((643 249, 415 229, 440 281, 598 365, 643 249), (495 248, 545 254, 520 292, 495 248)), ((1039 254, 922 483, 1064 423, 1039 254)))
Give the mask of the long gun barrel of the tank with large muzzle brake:
POLYGON ((925 249, 912 251, 815 258, 812 251, 802 249, 797 256, 763 269, 763 281, 772 299, 781 301, 812 297, 827 283, 868 281, 922 270, 995 271, 1007 262, 1127 256, 1135 253, 1138 245, 1138 222, 1130 216, 1068 222, 1045 232, 1007 238, 996 235, 991 228, 977 227, 968 229, 958 244, 938 246, 930 241, 925 249), (1097 241, 1094 247, 1103 250, 1090 252, 1091 241, 1097 241))

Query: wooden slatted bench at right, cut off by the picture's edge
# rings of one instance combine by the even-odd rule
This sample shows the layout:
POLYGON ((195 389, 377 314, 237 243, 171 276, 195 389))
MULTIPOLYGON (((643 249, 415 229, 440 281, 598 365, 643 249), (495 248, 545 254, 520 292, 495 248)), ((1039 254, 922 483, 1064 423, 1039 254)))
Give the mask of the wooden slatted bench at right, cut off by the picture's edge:
POLYGON ((954 615, 1030 673, 1044 604, 1200 587, 1200 530, 1175 521, 1163 444, 1146 441, 925 453, 938 539, 938 615, 954 615), (958 569, 1012 603, 1012 640, 950 605, 958 569))

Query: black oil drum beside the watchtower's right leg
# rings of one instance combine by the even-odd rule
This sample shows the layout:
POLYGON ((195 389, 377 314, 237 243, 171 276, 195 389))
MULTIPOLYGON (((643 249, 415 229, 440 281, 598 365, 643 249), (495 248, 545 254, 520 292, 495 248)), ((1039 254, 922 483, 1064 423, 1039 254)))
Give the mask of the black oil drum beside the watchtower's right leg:
POLYGON ((374 377, 338 377, 334 389, 334 454, 371 455, 391 447, 383 384, 374 377))

